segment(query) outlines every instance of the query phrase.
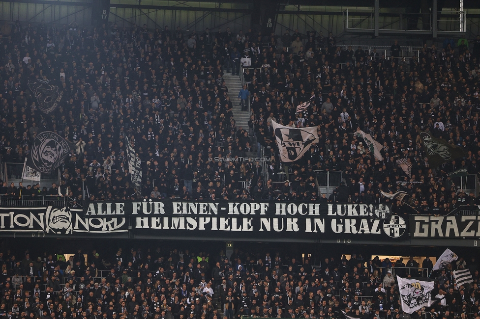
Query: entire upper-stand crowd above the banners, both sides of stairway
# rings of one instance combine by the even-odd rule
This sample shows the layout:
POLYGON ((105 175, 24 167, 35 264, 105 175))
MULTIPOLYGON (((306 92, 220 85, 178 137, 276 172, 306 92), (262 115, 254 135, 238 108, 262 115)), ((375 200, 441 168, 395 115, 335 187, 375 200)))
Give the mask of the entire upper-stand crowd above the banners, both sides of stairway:
POLYGON ((17 22, 0 38, 3 162, 22 163, 42 130, 75 143, 76 154, 60 166, 60 186, 3 183, 0 193, 83 200, 85 185, 92 200, 141 195, 377 203, 385 201, 380 190, 405 190, 419 212, 479 204, 477 194, 457 192, 448 174, 463 167, 479 173, 480 36, 458 47, 452 40, 443 48, 425 45, 408 62, 397 41, 386 57, 341 49, 331 33, 296 30, 280 38, 251 29, 184 36, 180 27, 17 22), (238 74, 240 63, 251 99, 248 128, 236 126, 222 77, 238 74), (28 87, 39 79, 64 96, 49 114, 28 87), (312 106, 297 114, 295 106, 312 95, 312 106), (283 164, 271 120, 317 126, 320 142, 301 160, 283 164), (429 167, 415 125, 461 146, 465 157, 429 167), (384 145, 384 160, 353 134, 359 128, 384 145), (141 194, 131 186, 125 143, 144 163, 141 194), (268 179, 260 162, 214 160, 258 154, 260 147, 271 155, 268 179), (403 158, 412 163, 411 177, 395 163, 403 158), (342 171, 346 184, 320 195, 315 170, 342 171), (282 173, 289 183, 275 192, 272 182, 282 182, 282 173))

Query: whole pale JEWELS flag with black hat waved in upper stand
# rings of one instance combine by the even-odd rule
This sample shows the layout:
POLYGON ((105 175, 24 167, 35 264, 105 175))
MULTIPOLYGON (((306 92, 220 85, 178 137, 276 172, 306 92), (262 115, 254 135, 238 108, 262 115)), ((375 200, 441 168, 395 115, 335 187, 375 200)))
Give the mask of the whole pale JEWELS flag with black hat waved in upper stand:
POLYGON ((271 122, 283 162, 301 159, 312 143, 318 143, 317 127, 297 129, 271 122))

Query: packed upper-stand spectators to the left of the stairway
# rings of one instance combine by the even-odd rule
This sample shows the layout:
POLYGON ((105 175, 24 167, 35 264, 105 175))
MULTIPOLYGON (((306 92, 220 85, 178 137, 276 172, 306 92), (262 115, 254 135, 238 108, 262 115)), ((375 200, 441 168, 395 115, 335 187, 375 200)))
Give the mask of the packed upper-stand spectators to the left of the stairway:
MULTIPOLYGON (((235 52, 225 48, 235 41, 229 28, 185 36, 180 27, 32 27, 17 21, 8 35, 0 35, 3 162, 23 163, 43 130, 75 143, 76 154, 60 166, 65 191, 57 185, 3 184, 1 194, 82 200, 85 183, 95 200, 206 199, 240 189, 240 181, 253 177, 250 163, 209 161, 251 150, 248 133, 233 119, 222 77, 235 52), (56 110, 39 110, 29 80, 49 80, 63 91, 56 110), (141 194, 131 186, 125 143, 142 160, 141 194), (197 186, 201 193, 195 195, 197 186)), ((11 172, 19 178, 21 169, 11 172)))

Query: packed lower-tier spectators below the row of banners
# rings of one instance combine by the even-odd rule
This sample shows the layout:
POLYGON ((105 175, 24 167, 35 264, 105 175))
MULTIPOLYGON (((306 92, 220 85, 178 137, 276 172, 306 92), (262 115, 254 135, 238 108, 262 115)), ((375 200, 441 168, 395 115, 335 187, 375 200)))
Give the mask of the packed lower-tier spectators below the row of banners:
MULTIPOLYGON (((426 276, 413 257, 326 258, 321 266, 276 252, 251 254, 235 249, 193 253, 119 249, 112 256, 81 249, 65 256, 0 253, 0 316, 9 319, 240 319, 404 317, 395 275, 426 276)), ((475 258, 463 258, 434 273, 429 308, 414 319, 473 319, 480 314, 479 272, 475 258), (457 286, 454 269, 469 268, 474 282, 457 286)))

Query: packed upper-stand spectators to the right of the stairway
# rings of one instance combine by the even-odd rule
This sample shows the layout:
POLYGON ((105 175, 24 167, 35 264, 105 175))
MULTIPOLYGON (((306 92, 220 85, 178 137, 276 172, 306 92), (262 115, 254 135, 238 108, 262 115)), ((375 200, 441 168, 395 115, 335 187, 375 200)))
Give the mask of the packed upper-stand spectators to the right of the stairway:
POLYGON ((285 173, 296 190, 282 199, 377 203, 385 201, 380 190, 403 190, 415 194, 409 205, 418 212, 443 214, 479 204, 478 194, 457 192, 465 187, 448 174, 480 170, 480 36, 470 43, 460 39, 458 47, 451 39, 443 48, 424 45, 419 56, 408 59, 401 57, 396 40, 389 57, 376 49, 342 49, 331 33, 287 31, 282 48, 279 40, 272 37, 261 51, 245 40, 241 59, 253 112, 249 129, 271 152, 272 180, 285 173), (312 106, 297 114, 296 106, 312 96, 312 106), (281 163, 272 120, 288 127, 316 126, 320 141, 302 159, 281 163), (462 147, 465 157, 430 167, 416 126, 462 147), (354 135, 359 129, 384 146, 384 160, 376 160, 354 135), (411 162, 411 177, 397 167, 399 159, 411 162), (315 180, 315 170, 342 171, 345 185, 331 196, 312 193, 308 188, 316 185, 309 178, 315 180))

